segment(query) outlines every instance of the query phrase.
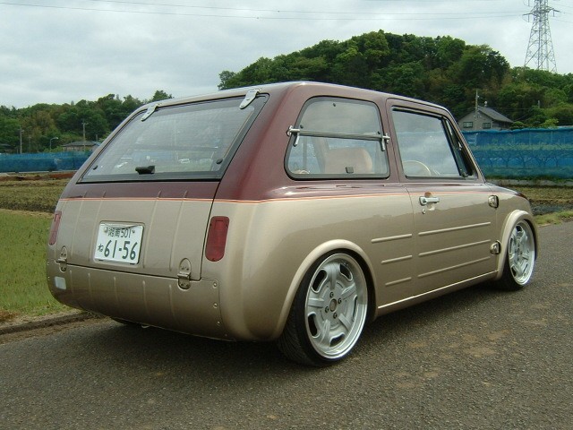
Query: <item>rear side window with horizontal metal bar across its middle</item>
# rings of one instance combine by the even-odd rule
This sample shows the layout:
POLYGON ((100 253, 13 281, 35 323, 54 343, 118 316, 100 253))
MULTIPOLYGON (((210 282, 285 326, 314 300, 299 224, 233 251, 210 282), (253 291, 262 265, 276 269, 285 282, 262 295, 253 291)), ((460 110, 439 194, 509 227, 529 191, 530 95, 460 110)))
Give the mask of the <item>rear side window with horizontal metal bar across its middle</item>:
POLYGON ((298 179, 388 176, 380 114, 366 101, 316 98, 290 130, 286 171, 298 179))

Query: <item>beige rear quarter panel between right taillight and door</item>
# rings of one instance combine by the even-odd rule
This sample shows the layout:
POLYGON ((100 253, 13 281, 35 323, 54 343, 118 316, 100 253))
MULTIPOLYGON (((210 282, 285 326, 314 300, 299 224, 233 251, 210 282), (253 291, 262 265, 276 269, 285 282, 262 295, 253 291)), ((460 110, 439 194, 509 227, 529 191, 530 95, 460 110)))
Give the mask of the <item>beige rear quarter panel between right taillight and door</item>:
POLYGON ((399 260, 412 254, 412 239, 399 245, 389 240, 411 231, 410 202, 404 192, 215 202, 213 215, 227 216, 241 226, 229 228, 225 265, 203 263, 203 275, 220 280, 223 322, 240 330, 233 337, 278 337, 304 273, 321 255, 335 249, 361 257, 372 274, 376 297, 399 300, 414 289, 405 284, 390 296, 384 284, 375 281, 401 280, 409 272, 407 264, 399 260), (325 216, 316 217, 317 211, 325 216), (296 217, 289 217, 289 213, 296 213, 296 217), (392 222, 385 222, 390 217, 392 222), (360 231, 355 222, 363 226, 360 231), (393 260, 389 271, 386 266, 393 260), (235 286, 237 279, 241 280, 240 288, 235 286))

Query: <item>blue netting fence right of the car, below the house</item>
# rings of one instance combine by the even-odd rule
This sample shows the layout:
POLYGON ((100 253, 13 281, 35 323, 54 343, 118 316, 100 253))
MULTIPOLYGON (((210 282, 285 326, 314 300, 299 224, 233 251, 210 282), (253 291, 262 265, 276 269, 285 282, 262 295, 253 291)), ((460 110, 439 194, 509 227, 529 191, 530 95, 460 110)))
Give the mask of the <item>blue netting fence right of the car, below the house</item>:
POLYGON ((464 132, 485 176, 573 177, 573 127, 464 132))

